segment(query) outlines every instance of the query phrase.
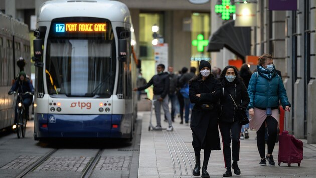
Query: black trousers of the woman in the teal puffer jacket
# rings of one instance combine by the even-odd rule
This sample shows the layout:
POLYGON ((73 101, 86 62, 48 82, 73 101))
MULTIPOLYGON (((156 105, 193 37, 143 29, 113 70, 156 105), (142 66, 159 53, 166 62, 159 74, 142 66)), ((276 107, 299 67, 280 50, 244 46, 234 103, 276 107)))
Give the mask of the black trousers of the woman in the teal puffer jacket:
POLYGON ((267 116, 257 131, 257 147, 261 158, 265 157, 265 123, 267 124, 268 128, 268 154, 272 154, 277 136, 277 121, 274 117, 267 116))

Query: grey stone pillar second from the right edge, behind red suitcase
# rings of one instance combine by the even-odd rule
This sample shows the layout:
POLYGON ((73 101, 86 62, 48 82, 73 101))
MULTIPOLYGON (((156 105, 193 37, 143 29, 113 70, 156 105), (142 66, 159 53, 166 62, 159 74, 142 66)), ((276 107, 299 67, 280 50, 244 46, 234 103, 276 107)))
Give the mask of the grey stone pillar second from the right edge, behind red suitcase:
POLYGON ((298 0, 297 13, 297 80, 294 85, 294 134, 304 138, 304 1, 298 0))

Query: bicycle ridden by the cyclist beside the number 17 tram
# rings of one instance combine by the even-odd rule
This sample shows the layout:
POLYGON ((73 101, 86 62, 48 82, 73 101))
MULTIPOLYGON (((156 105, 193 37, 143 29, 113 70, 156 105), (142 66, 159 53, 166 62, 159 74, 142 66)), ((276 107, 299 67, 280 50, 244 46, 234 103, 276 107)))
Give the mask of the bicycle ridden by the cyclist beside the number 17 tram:
POLYGON ((25 108, 23 105, 23 98, 22 96, 24 96, 25 94, 30 94, 33 95, 31 92, 27 91, 25 93, 17 93, 15 91, 11 92, 11 94, 17 95, 20 99, 19 102, 17 102, 16 104, 16 114, 17 114, 17 123, 16 123, 16 132, 17 132, 17 136, 18 138, 25 137, 25 130, 26 130, 26 123, 27 123, 27 119, 25 116, 25 108))

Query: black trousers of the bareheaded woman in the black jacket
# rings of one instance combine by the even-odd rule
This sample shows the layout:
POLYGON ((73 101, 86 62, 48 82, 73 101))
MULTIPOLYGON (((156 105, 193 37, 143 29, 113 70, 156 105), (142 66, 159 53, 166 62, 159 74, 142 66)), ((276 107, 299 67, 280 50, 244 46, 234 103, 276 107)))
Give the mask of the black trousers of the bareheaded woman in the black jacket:
POLYGON ((240 131, 241 131, 241 124, 239 122, 233 123, 225 123, 225 122, 218 122, 218 126, 220 128, 222 134, 222 141, 223 141, 223 154, 224 154, 224 161, 225 167, 230 168, 232 167, 232 158, 231 158, 231 150, 230 150, 230 143, 232 142, 232 152, 233 152, 233 161, 239 161, 239 150, 240 150, 240 131))

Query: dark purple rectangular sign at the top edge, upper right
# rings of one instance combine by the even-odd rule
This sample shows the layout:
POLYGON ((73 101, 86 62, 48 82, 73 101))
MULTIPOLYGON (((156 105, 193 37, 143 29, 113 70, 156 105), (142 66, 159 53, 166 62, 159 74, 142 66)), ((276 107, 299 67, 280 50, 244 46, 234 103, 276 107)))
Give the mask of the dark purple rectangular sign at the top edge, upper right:
POLYGON ((297 0, 269 0, 269 10, 297 10, 297 0))

